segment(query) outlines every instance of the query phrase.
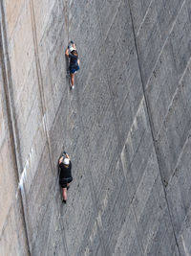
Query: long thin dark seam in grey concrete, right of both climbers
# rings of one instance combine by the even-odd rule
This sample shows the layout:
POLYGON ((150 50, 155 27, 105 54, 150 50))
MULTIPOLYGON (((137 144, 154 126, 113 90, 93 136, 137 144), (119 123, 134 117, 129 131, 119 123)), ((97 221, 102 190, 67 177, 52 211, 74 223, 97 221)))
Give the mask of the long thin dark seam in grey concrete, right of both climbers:
MULTIPOLYGON (((159 155, 158 155, 158 151, 157 151, 157 143, 155 141, 152 116, 151 116, 151 113, 150 113, 149 104, 148 104, 146 93, 145 93, 145 89, 144 89, 143 77, 142 77, 142 72, 141 72, 141 68, 140 68, 140 59, 139 59, 139 55, 138 55, 138 42, 137 42, 137 38, 136 38, 133 14, 132 14, 132 11, 131 11, 131 5, 129 3, 129 0, 128 0, 128 5, 129 5, 129 10, 130 10, 130 15, 131 15, 132 30, 133 30, 133 35, 134 35, 136 53, 137 53, 137 57, 138 57, 138 70, 139 70, 139 74, 140 74, 140 80, 141 80, 141 85, 142 85, 142 92, 143 92, 143 97, 144 97, 144 101, 145 101, 145 105, 146 105, 146 109, 147 109, 148 121, 149 121, 150 129, 151 129, 153 145, 154 145, 155 153, 156 153, 156 156, 157 156, 157 161, 158 161, 158 166, 159 166, 159 175, 160 175, 160 179, 161 179, 161 183, 162 183, 162 188, 163 188, 163 193, 164 193, 164 197, 165 197, 165 201, 166 201, 166 205, 167 205, 167 209, 168 209, 169 218, 170 218, 172 229, 173 229, 173 235, 174 235, 175 242, 177 244, 178 251, 179 251, 179 254, 180 254, 179 244, 178 244, 178 241, 177 241, 177 236, 176 236, 176 233, 175 233, 174 224, 173 224, 173 221, 172 221, 172 216, 171 216, 171 213, 170 213, 170 207, 169 207, 169 204, 168 204, 168 200, 167 200, 164 184, 162 182, 161 169, 160 169, 160 165, 159 165, 159 155)), ((143 247, 142 247, 142 249, 143 249, 143 247)))

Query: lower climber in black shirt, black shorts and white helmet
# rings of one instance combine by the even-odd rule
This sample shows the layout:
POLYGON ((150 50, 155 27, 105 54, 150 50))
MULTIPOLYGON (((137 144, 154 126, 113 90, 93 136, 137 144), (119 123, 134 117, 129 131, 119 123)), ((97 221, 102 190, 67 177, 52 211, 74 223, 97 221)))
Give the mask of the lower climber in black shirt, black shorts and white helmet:
POLYGON ((69 183, 73 181, 72 176, 72 163, 68 153, 64 152, 59 158, 59 183, 62 188, 62 201, 66 203, 67 201, 67 190, 70 188, 69 183))

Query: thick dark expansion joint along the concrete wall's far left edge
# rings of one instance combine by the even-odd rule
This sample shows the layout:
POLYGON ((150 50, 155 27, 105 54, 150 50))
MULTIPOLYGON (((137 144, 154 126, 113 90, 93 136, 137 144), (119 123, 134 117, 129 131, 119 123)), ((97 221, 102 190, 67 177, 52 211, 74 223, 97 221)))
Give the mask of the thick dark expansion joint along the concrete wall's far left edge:
MULTIPOLYGON (((12 78, 11 78, 11 63, 10 63, 10 57, 9 57, 9 51, 8 51, 8 35, 7 35, 7 24, 5 20, 5 10, 4 10, 4 1, 0 1, 0 17, 1 17, 1 24, 2 27, 0 27, 0 60, 1 60, 1 68, 3 72, 3 86, 4 86, 4 94, 6 97, 6 111, 8 116, 8 128, 9 128, 9 139, 11 142, 11 154, 12 154, 12 160, 13 160, 13 166, 14 166, 14 175, 16 176, 16 181, 19 183, 19 164, 22 166, 22 163, 20 162, 20 148, 19 144, 17 145, 17 132, 15 131, 16 122, 14 119, 14 109, 12 109, 12 78), (18 146, 18 149, 16 150, 16 146, 18 146), (18 151, 18 153, 17 153, 18 151)), ((24 209, 24 202, 23 197, 19 189, 17 189, 16 198, 19 198, 20 200, 20 215, 22 219, 22 225, 24 228, 24 237, 25 237, 25 245, 28 255, 31 255, 30 252, 30 244, 29 244, 29 237, 28 237, 28 231, 27 231, 27 224, 26 224, 26 216, 25 216, 25 209, 24 209)))

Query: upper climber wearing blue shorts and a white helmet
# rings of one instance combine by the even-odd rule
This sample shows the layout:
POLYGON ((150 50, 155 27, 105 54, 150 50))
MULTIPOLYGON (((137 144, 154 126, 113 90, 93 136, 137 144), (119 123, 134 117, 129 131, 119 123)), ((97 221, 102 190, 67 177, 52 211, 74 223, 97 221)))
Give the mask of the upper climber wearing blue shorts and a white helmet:
POLYGON ((73 41, 69 43, 65 55, 70 58, 69 71, 71 76, 71 89, 74 89, 74 74, 79 70, 80 60, 73 41))

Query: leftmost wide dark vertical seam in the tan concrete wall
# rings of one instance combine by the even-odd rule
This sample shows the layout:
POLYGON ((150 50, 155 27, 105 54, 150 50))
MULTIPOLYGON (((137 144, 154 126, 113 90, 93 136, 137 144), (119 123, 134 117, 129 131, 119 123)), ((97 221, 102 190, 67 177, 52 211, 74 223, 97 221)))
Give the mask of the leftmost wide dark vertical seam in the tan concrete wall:
MULTIPOLYGON (((17 182, 19 182, 19 171, 18 171, 18 161, 16 157, 16 146, 15 146, 15 137, 13 132, 13 122, 12 122, 12 109, 11 109, 11 92, 9 89, 9 84, 12 87, 12 80, 11 80, 11 64, 10 64, 10 58, 9 58, 9 50, 8 50, 8 37, 6 32, 6 21, 5 21, 5 10, 4 10, 4 3, 1 1, 0 3, 0 13, 2 14, 1 23, 2 23, 2 29, 0 27, 0 62, 1 62, 1 70, 2 70, 2 79, 3 79, 3 88, 5 93, 5 102, 6 102, 6 111, 7 111, 7 119, 8 119, 8 127, 9 127, 9 137, 11 140, 11 151, 12 151, 12 157, 14 162, 14 173, 16 175, 17 182), (3 43, 4 41, 4 43, 3 43), (5 44, 5 46, 3 46, 5 44), (4 48, 5 47, 5 48, 4 48), (5 58, 5 55, 7 56, 7 60, 5 58)), ((26 239, 26 245, 29 255, 31 255, 30 250, 30 244, 29 244, 29 237, 28 237, 28 231, 27 231, 27 224, 26 224, 26 218, 25 218, 25 210, 24 210, 24 204, 23 204, 23 197, 20 188, 18 188, 18 195, 21 201, 21 215, 25 230, 25 239, 26 239)))

